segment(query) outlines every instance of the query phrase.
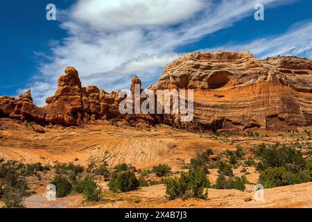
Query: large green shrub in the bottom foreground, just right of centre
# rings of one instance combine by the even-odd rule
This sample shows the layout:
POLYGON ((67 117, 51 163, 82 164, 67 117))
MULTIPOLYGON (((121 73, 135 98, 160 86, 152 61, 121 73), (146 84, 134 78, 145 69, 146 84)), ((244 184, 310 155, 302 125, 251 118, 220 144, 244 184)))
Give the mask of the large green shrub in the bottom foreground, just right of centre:
POLYGON ((204 188, 209 187, 207 174, 203 169, 190 168, 188 173, 181 172, 180 178, 166 179, 166 194, 169 200, 176 198, 207 198, 204 188))

